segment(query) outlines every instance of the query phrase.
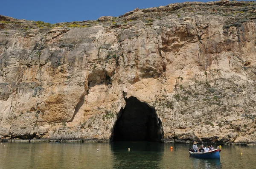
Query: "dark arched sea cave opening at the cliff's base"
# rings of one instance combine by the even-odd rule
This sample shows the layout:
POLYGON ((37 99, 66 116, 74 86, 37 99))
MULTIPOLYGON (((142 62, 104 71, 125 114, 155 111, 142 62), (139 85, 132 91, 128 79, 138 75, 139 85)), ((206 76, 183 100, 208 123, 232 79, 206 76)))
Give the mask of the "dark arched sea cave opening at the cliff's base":
POLYGON ((121 109, 112 131, 112 141, 163 141, 162 122, 154 107, 131 96, 121 109))

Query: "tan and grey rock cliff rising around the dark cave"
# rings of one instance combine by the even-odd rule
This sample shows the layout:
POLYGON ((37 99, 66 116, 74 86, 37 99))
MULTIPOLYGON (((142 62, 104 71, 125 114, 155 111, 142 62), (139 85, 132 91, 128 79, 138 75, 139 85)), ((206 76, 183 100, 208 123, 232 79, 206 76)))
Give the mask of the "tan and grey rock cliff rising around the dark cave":
POLYGON ((113 141, 135 98, 125 112, 147 104, 161 141, 255 144, 255 11, 216 1, 53 25, 0 16, 0 139, 113 141))

